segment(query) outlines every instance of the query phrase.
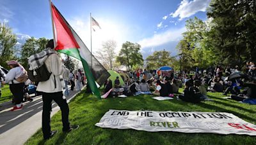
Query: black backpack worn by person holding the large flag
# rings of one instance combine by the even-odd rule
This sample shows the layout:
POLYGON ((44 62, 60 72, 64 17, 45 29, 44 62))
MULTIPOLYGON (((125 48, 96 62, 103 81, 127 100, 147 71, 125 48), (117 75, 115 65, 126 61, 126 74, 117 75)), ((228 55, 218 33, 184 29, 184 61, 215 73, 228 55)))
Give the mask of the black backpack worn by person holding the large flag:
POLYGON ((50 73, 43 64, 42 66, 38 67, 37 69, 34 70, 28 70, 28 78, 31 81, 39 82, 39 81, 47 81, 52 73, 50 73), (34 73, 35 71, 35 73, 34 73))

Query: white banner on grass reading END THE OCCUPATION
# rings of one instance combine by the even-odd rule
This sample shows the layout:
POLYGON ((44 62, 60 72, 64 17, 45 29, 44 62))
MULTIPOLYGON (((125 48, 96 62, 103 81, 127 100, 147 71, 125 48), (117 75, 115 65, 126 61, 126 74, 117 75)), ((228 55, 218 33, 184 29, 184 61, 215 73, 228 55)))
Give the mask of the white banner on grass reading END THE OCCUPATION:
POLYGON ((95 125, 148 132, 256 135, 256 125, 230 113, 109 110, 95 125))

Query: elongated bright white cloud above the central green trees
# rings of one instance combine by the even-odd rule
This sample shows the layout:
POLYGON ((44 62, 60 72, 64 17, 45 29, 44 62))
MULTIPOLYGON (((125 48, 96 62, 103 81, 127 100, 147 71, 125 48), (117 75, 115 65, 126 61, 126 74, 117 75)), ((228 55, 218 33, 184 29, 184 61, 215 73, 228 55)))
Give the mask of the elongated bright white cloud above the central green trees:
POLYGON ((160 46, 170 41, 177 41, 177 39, 182 37, 182 33, 186 31, 185 27, 181 29, 169 29, 166 32, 160 34, 154 34, 151 38, 145 38, 139 41, 141 48, 148 48, 153 46, 160 46))

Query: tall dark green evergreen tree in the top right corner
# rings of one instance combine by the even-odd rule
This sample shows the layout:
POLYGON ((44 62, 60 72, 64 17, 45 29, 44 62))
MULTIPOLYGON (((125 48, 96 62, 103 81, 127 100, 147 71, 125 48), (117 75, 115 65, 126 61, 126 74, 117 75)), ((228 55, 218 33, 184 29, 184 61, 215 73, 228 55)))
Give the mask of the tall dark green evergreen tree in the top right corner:
POLYGON ((256 2, 212 0, 207 16, 212 18, 211 45, 220 62, 242 66, 256 61, 256 2))

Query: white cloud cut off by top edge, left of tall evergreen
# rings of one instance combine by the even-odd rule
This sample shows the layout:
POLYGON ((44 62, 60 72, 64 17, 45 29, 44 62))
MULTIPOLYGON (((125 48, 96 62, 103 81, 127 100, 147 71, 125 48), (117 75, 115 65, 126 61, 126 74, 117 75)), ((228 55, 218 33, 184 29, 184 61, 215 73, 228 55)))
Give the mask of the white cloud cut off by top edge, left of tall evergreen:
POLYGON ((182 20, 183 18, 194 15, 198 11, 205 11, 210 1, 211 0, 183 0, 180 2, 179 8, 170 15, 172 15, 173 18, 179 17, 179 20, 182 20))

